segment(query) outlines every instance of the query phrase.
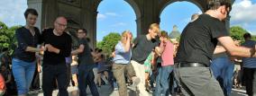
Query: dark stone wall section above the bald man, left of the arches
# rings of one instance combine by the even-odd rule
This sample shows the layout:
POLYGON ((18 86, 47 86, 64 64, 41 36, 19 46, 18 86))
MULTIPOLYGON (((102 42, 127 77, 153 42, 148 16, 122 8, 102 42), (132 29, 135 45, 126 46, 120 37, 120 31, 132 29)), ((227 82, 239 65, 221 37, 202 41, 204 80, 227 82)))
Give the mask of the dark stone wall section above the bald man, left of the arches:
POLYGON ((68 19, 68 31, 78 28, 87 29, 91 39, 90 46, 96 47, 96 8, 101 0, 27 0, 28 7, 36 9, 40 14, 36 26, 41 30, 53 26, 58 16, 68 19))

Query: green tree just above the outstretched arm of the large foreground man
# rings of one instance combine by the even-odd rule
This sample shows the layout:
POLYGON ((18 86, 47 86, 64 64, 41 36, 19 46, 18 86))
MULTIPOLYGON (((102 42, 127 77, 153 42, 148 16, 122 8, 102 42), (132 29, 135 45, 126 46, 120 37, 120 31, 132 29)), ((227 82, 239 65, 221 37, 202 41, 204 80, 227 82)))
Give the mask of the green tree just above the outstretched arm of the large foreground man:
POLYGON ((230 28, 230 32, 230 35, 233 39, 241 40, 243 42, 244 39, 242 36, 244 33, 247 33, 248 31, 242 29, 242 27, 240 26, 233 26, 230 28))

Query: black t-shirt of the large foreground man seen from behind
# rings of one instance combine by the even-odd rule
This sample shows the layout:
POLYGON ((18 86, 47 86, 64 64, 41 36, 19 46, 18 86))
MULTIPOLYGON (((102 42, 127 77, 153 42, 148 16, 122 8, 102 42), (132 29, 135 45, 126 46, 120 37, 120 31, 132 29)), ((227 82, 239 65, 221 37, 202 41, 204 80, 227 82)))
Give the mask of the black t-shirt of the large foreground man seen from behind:
POLYGON ((181 34, 175 62, 197 62, 210 64, 217 38, 228 36, 224 22, 201 14, 197 21, 190 22, 181 34))

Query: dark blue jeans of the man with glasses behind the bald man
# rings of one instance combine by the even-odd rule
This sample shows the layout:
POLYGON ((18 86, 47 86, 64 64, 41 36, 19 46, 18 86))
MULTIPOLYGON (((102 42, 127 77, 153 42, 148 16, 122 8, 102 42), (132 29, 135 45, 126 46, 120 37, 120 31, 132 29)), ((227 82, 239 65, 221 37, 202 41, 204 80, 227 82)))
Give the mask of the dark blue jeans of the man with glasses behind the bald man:
POLYGON ((93 67, 88 69, 88 65, 78 65, 79 96, 87 96, 87 85, 93 96, 99 96, 94 79, 93 67))

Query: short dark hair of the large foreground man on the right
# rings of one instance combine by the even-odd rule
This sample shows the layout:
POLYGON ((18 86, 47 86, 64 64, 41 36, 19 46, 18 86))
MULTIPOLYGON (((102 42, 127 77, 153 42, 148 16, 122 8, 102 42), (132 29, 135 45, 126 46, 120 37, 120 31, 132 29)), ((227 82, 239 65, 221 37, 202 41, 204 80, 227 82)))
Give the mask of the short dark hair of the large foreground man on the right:
POLYGON ((231 11, 232 5, 230 0, 209 0, 207 10, 215 10, 222 5, 225 5, 226 8, 230 8, 229 11, 231 11))

